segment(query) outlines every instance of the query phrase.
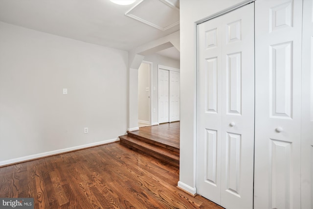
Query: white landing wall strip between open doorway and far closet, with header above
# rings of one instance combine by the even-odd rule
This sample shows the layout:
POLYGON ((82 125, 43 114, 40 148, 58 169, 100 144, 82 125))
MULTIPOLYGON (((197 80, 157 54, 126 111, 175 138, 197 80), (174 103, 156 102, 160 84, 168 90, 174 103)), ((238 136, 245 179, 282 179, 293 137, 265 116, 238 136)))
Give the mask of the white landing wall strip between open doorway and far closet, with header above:
POLYGON ((152 109, 156 109, 156 112, 152 113, 152 124, 157 124, 157 65, 164 65, 167 67, 177 68, 179 69, 179 60, 171 59, 168 57, 164 57, 158 54, 147 55, 144 57, 145 61, 149 61, 153 63, 152 69, 152 86, 156 87, 155 91, 152 88, 152 109))

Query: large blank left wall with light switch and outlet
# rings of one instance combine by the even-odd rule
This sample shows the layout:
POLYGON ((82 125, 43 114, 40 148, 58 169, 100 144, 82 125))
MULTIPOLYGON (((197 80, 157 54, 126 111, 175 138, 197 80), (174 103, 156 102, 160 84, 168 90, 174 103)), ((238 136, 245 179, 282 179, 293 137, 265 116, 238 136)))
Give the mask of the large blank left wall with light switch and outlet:
POLYGON ((0 165, 125 134, 127 66, 126 51, 0 23, 0 165))

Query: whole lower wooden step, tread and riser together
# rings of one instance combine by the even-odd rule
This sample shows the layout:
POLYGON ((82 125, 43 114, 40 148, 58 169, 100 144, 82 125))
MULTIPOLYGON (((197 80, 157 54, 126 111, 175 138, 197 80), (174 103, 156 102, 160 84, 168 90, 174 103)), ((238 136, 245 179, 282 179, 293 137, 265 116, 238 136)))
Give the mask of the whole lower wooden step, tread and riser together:
POLYGON ((179 168, 178 152, 131 135, 124 135, 119 138, 122 145, 179 168))

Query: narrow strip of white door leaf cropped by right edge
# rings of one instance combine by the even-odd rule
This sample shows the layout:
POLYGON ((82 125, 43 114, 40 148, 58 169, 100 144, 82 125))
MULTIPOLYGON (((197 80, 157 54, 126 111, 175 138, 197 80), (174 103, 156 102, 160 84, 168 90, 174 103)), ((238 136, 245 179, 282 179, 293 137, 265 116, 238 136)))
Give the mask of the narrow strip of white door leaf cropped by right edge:
POLYGON ((313 209, 313 1, 303 1, 301 207, 313 209))

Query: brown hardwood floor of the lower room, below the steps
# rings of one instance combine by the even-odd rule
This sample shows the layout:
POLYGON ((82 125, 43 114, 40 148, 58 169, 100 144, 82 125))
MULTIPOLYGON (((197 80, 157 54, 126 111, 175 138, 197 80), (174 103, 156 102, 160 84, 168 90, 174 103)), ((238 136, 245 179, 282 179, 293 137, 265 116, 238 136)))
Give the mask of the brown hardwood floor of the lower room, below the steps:
POLYGON ((223 209, 177 188, 179 169, 119 142, 0 168, 0 197, 35 209, 223 209))

